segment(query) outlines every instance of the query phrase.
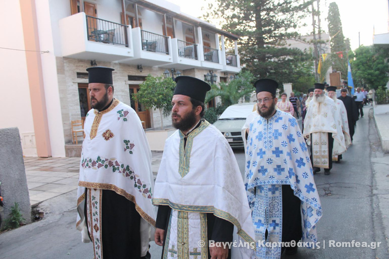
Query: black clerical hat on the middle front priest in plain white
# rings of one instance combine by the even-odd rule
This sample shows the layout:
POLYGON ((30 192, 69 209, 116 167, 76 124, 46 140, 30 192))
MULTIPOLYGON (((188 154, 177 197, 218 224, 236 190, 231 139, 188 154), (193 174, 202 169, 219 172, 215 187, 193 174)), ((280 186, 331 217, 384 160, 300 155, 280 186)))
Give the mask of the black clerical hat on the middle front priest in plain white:
POLYGON ((196 77, 177 76, 175 81, 177 85, 174 89, 174 95, 182 94, 204 102, 207 91, 211 90, 209 84, 196 77))

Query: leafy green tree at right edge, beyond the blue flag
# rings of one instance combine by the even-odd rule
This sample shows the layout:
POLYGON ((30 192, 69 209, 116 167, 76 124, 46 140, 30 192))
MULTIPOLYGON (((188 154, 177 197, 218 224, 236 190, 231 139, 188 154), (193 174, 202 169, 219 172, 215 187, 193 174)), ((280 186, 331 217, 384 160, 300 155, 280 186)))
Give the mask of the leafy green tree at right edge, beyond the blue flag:
POLYGON ((375 90, 379 86, 385 86, 389 80, 387 56, 386 49, 372 46, 357 48, 355 54, 350 55, 355 86, 374 88, 375 90))

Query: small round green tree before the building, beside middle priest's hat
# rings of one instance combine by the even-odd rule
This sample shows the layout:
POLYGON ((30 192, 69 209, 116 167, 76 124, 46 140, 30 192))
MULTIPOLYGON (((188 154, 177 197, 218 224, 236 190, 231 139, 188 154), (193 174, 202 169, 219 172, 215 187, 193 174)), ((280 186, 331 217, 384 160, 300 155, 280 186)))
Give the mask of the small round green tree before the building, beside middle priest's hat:
POLYGON ((173 98, 173 89, 176 83, 171 78, 162 79, 148 75, 146 80, 139 85, 139 91, 134 94, 134 99, 147 109, 158 109, 161 115, 161 130, 163 129, 163 111, 165 116, 170 111, 173 98))

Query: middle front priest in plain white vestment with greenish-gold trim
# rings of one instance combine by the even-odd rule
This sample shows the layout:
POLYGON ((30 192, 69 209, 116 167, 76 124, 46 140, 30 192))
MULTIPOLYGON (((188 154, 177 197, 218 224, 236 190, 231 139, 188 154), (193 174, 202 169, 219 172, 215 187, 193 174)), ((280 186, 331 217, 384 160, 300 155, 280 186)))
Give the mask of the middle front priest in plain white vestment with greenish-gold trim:
POLYGON ((254 229, 241 173, 225 137, 201 119, 211 87, 188 76, 176 82, 172 123, 178 130, 166 140, 153 196, 162 258, 231 258, 234 229, 247 244, 236 252, 252 258, 254 229))

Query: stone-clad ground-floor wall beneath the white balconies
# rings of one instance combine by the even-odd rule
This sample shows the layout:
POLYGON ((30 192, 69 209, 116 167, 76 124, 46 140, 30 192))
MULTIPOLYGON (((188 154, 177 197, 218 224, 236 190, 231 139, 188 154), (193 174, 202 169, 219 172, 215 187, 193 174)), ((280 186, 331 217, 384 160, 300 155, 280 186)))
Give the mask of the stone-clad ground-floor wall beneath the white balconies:
MULTIPOLYGON (((128 87, 128 76, 163 76, 165 68, 143 66, 142 72, 139 72, 136 65, 126 65, 120 63, 96 61, 98 66, 106 66, 115 69, 113 71, 114 96, 120 101, 130 105, 130 94, 128 87)), ((85 73, 90 67, 89 60, 78 60, 71 58, 57 57, 57 74, 60 92, 60 102, 62 119, 64 124, 65 143, 72 143, 71 121, 81 120, 78 83, 88 83, 87 79, 77 78, 77 72, 85 73)), ((204 75, 209 72, 206 69, 187 69, 180 71, 182 75, 193 76, 204 80, 204 75)), ((220 73, 217 72, 218 76, 220 73)), ((218 82, 219 82, 218 77, 218 82)), ((161 116, 159 110, 154 109, 151 112, 151 125, 159 129, 161 126, 161 116)), ((164 126, 171 125, 170 116, 163 118, 164 126)))

